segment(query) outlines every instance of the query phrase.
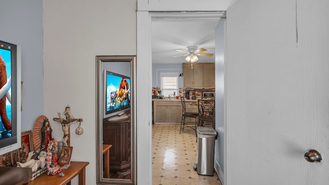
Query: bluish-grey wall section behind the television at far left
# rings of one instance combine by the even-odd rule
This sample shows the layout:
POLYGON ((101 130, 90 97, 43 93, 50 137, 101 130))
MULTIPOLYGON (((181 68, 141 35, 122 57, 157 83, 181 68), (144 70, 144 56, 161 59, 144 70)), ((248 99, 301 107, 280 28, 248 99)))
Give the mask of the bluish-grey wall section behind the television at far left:
POLYGON ((21 45, 22 57, 22 132, 33 130, 44 114, 42 0, 1 1, 0 40, 21 45))

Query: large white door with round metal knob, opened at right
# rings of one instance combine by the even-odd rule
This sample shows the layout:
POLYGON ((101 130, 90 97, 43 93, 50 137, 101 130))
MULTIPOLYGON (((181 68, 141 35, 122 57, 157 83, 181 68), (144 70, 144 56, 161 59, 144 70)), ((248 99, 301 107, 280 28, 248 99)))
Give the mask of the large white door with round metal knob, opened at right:
POLYGON ((329 184, 329 2, 227 11, 225 184, 329 184), (309 149, 321 163, 304 159, 309 149))

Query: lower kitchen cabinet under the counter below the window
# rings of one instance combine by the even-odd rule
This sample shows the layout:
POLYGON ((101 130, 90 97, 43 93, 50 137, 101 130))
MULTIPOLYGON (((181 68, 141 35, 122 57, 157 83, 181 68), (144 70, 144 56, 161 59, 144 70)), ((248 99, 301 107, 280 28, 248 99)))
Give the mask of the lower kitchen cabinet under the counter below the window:
POLYGON ((154 101, 155 123, 180 123, 181 103, 180 101, 154 101))

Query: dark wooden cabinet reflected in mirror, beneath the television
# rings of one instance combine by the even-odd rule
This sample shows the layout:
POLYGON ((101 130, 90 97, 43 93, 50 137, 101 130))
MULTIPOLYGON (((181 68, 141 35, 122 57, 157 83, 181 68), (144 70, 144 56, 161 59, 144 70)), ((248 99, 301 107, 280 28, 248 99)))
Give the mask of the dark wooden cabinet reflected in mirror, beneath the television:
POLYGON ((125 171, 131 167, 130 117, 123 121, 103 119, 103 144, 111 144, 109 169, 125 171))

